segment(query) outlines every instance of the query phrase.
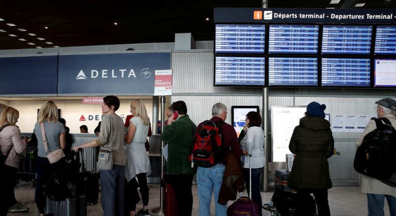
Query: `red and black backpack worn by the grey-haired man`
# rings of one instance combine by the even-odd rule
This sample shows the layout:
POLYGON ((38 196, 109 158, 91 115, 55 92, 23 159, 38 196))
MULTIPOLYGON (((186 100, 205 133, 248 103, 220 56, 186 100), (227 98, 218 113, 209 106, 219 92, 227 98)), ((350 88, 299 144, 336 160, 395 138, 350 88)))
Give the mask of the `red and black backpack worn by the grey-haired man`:
POLYGON ((224 146, 222 145, 221 122, 211 122, 209 120, 202 124, 202 128, 192 140, 191 155, 189 161, 196 166, 211 167, 223 160, 224 146))

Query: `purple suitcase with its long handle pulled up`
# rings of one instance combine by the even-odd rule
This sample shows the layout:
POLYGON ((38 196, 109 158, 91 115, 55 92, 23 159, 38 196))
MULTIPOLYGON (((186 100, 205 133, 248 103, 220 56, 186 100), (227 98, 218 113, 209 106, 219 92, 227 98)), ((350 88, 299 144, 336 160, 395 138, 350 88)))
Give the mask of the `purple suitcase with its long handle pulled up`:
MULTIPOLYGON (((249 155, 249 185, 252 185, 252 155, 249 155)), ((259 206, 249 197, 252 197, 252 187, 249 190, 249 197, 241 196, 227 209, 227 216, 259 216, 259 206)), ((260 206, 261 207, 261 206, 260 206)))

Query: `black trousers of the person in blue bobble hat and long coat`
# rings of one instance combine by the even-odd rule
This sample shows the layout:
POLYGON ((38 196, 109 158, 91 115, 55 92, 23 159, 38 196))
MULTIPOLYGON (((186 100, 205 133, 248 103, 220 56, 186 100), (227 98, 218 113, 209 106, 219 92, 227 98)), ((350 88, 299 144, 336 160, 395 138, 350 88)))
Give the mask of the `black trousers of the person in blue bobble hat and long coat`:
POLYGON ((296 216, 313 216, 315 215, 313 199, 311 193, 314 195, 314 202, 318 208, 318 216, 330 216, 329 201, 327 199, 327 189, 324 190, 297 190, 297 209, 296 216))

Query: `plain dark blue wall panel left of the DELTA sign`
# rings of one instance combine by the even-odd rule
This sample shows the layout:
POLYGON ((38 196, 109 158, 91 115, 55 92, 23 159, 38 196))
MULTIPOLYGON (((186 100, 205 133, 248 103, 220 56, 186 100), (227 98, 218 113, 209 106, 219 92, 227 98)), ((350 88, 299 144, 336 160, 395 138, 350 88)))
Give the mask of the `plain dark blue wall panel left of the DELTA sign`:
POLYGON ((0 58, 0 95, 56 95, 58 56, 0 58))

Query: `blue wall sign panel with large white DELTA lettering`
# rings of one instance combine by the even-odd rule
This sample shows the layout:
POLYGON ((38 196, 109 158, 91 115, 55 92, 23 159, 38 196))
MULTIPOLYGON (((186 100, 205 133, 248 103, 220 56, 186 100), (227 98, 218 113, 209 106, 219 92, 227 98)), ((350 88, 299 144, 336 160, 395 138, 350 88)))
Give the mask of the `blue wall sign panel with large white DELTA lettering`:
POLYGON ((163 69, 169 52, 60 55, 58 94, 151 95, 163 69))

